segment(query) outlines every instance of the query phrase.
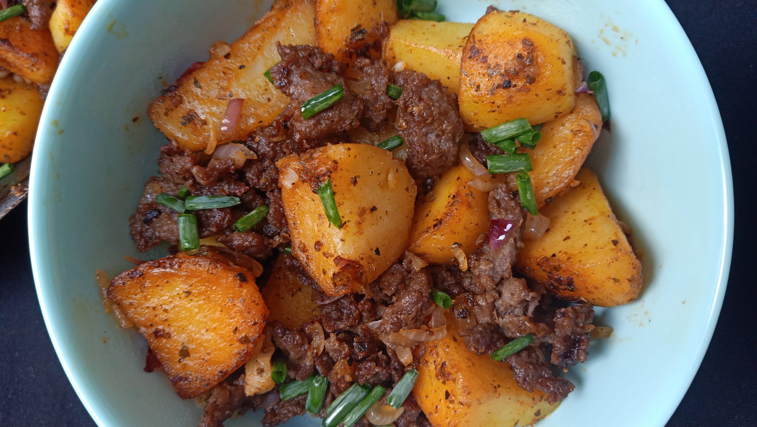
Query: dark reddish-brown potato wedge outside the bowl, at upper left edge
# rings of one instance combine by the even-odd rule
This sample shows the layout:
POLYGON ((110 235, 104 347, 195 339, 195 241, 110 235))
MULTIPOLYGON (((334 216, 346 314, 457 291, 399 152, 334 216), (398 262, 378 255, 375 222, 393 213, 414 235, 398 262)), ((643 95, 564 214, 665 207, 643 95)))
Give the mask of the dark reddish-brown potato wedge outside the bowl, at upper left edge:
POLYGON ((58 50, 50 30, 32 30, 30 26, 24 17, 0 22, 0 67, 48 85, 58 70, 58 50))

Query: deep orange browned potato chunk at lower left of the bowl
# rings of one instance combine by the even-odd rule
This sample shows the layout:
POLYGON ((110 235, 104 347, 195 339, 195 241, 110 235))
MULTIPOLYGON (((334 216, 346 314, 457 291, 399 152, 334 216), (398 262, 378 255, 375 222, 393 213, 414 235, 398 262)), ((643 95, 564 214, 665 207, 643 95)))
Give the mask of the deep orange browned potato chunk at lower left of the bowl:
POLYGON ((121 273, 107 290, 145 336, 179 397, 196 397, 245 364, 268 309, 253 274, 176 256, 121 273))

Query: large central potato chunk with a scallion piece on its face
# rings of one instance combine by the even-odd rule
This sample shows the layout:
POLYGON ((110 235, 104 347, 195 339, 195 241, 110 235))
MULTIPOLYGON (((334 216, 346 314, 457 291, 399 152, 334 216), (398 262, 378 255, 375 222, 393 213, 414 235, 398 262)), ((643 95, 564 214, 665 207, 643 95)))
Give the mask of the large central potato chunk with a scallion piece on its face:
POLYGON ((365 291, 403 253, 416 185, 390 151, 326 145, 283 157, 277 166, 292 254, 326 295, 365 291), (329 223, 316 194, 328 179, 341 229, 329 223))

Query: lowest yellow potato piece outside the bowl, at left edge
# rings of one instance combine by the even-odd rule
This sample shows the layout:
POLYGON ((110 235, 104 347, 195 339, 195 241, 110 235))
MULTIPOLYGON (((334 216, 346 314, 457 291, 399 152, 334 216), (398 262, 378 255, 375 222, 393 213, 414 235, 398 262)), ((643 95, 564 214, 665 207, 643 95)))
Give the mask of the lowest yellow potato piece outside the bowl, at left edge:
POLYGON ((0 79, 0 163, 15 163, 29 155, 45 101, 36 89, 0 79))

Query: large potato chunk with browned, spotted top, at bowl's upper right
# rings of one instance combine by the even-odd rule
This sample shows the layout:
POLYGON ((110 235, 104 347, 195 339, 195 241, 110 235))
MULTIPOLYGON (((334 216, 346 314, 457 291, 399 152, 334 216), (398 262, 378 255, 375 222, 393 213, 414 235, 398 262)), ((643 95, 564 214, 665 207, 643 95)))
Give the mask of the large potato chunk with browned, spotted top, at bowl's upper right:
POLYGON ((544 123, 575 106, 575 45, 547 21, 492 11, 473 27, 460 68, 460 115, 469 130, 525 117, 544 123))

